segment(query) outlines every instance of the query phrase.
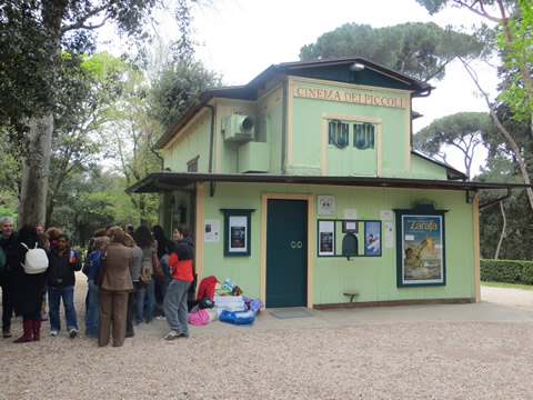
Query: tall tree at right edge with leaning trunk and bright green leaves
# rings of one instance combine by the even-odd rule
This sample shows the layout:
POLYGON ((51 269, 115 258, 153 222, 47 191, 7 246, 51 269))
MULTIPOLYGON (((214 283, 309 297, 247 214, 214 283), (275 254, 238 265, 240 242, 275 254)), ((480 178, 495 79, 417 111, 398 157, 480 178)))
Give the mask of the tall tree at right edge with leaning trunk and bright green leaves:
MULTIPOLYGON (((459 7, 469 10, 482 18, 499 24, 497 44, 501 56, 505 61, 502 71, 507 74, 503 94, 500 101, 505 102, 512 113, 519 118, 527 118, 530 124, 530 140, 527 146, 519 144, 515 132, 506 129, 497 117, 496 104, 491 102, 489 96, 482 88, 475 72, 466 60, 462 60, 466 71, 472 77, 480 92, 484 96, 491 117, 499 131, 506 141, 506 146, 513 153, 519 164, 524 183, 531 184, 531 177, 527 170, 526 160, 531 159, 533 151, 533 51, 531 49, 533 29, 533 3, 531 0, 504 1, 504 0, 416 0, 424 6, 430 14, 441 11, 447 6, 459 7), (510 79, 510 76, 511 79, 510 79), (512 88, 513 84, 517 88, 512 88)), ((533 189, 526 189, 530 209, 533 210, 533 189)))

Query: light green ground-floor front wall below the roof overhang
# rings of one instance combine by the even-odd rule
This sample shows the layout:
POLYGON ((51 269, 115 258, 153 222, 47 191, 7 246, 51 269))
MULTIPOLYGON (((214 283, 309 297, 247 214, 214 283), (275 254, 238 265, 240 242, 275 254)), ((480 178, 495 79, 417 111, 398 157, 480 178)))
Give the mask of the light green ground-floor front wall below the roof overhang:
MULTIPOLYGON (((346 302, 346 291, 358 291, 355 301, 389 301, 405 299, 474 298, 474 256, 472 204, 465 203, 462 191, 436 191, 392 188, 355 188, 325 186, 218 183, 215 196, 205 198, 205 219, 221 222, 221 241, 204 243, 204 276, 219 280, 232 278, 250 298, 260 296, 260 236, 261 192, 332 194, 336 200, 336 214, 342 219, 344 209, 356 209, 359 219, 380 220, 382 210, 410 209, 415 200, 436 202, 436 209, 450 210, 445 214, 446 286, 396 287, 395 233, 394 247, 384 248, 382 226, 382 257, 324 258, 316 257, 316 221, 331 217, 313 214, 312 243, 313 303, 346 302), (252 213, 251 256, 223 256, 223 213, 220 209, 255 209, 252 213)), ((392 221, 394 224, 394 220, 392 221)), ((395 228, 395 227, 394 227, 395 228)), ((338 240, 340 243, 340 240, 338 240)), ((339 244, 340 246, 340 244, 339 244)))

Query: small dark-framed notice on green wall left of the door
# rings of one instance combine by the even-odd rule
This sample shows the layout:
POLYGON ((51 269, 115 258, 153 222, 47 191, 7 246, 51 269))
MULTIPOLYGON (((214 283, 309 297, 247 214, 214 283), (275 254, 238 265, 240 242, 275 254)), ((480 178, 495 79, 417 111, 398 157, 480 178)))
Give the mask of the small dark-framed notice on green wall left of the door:
POLYGON ((253 210, 224 212, 224 256, 250 256, 251 213, 253 210))

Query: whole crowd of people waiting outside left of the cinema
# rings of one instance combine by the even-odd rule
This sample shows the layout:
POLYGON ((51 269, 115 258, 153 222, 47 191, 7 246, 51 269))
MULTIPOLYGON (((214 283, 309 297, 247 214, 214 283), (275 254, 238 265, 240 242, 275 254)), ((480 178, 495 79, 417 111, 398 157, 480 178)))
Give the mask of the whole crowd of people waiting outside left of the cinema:
MULTIPOLYGON (((130 228, 130 227, 128 227, 130 228)), ((100 347, 120 347, 125 338, 134 336, 134 324, 151 323, 155 308, 155 287, 160 289, 161 316, 170 332, 167 340, 189 337, 188 293, 193 281, 193 242, 189 228, 177 227, 177 242, 164 238, 160 226, 139 227, 124 232, 120 227, 99 229, 89 242, 83 273, 88 277, 86 299, 86 336, 98 338, 100 347), (97 271, 103 269, 99 286, 94 282, 97 271), (148 272, 147 272, 148 270, 148 272), (163 273, 159 274, 158 271, 163 273), (141 279, 141 272, 151 279, 141 279)), ((0 247, 7 254, 8 264, 0 271, 2 287, 2 333, 11 337, 11 317, 23 317, 23 336, 14 342, 40 339, 43 294, 48 293, 50 334, 61 330, 60 302, 64 307, 69 336, 78 336, 77 312, 73 294, 76 271, 81 270, 81 259, 69 243, 69 238, 56 228, 46 232, 42 227, 24 224, 13 231, 10 217, 0 219, 0 247), (24 272, 28 249, 42 248, 49 259, 46 272, 24 272)))

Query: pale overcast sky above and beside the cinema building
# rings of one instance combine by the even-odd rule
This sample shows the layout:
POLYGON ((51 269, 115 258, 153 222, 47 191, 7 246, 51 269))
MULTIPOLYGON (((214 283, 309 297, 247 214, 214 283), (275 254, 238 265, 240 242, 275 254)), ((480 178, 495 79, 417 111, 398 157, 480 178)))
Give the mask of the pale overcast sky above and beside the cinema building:
MULTIPOLYGON (((482 21, 472 12, 452 8, 430 16, 415 0, 212 0, 210 4, 194 7, 192 16, 194 40, 200 43, 197 58, 220 72, 229 86, 247 84, 271 64, 299 61, 302 46, 315 42, 322 33, 344 23, 381 28, 432 21, 459 29, 482 21)), ((175 31, 175 26, 168 23, 160 33, 171 36, 175 31)), ((495 93, 495 71, 476 66, 476 72, 483 90, 495 93)), ((442 81, 431 83, 436 89, 429 98, 413 100, 413 109, 423 114, 413 121, 414 132, 444 116, 487 111, 459 61, 446 67, 442 81)), ((473 171, 484 158, 485 152, 480 151, 473 171)), ((447 162, 464 171, 462 158, 453 152, 447 162)))

